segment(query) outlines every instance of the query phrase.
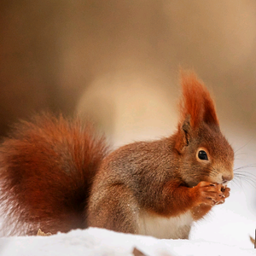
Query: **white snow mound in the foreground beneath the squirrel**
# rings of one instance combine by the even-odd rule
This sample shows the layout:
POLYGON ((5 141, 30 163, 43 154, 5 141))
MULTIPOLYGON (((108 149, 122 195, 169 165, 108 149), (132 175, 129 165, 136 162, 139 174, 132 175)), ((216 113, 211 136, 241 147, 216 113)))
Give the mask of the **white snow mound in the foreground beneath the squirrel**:
POLYGON ((134 236, 110 230, 89 228, 55 236, 3 237, 0 255, 7 256, 131 256, 136 247, 148 256, 177 255, 256 255, 253 248, 241 248, 204 240, 160 240, 150 236, 134 236))

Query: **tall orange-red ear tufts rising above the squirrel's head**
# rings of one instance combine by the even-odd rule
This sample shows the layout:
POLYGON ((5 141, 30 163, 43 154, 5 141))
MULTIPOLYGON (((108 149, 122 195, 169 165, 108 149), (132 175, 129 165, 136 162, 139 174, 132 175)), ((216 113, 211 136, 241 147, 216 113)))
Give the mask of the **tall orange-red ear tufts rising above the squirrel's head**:
POLYGON ((218 118, 214 107, 214 102, 206 86, 199 81, 195 73, 182 72, 183 96, 180 101, 181 122, 190 117, 192 128, 197 127, 202 122, 208 125, 218 125, 218 118))

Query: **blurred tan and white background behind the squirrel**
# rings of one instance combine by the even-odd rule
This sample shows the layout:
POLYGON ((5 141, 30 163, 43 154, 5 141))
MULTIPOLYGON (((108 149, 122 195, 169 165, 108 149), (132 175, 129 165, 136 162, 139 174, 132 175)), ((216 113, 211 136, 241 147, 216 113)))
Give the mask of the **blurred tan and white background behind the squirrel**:
MULTIPOLYGON (((254 0, 3 0, 0 135, 43 110, 90 117, 113 148, 170 135, 178 71, 192 68, 214 95, 235 167, 256 164, 255 10, 254 0)), ((231 183, 230 200, 193 237, 225 241, 228 224, 249 243, 255 169, 243 168, 249 181, 231 183)))

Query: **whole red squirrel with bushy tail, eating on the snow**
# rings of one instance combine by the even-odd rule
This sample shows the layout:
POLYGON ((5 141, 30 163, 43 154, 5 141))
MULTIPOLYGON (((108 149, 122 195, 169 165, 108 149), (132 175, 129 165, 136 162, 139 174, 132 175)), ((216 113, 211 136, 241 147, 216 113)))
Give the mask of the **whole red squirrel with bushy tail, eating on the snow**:
POLYGON ((3 230, 189 238, 193 222, 230 195, 234 151, 205 85, 194 73, 181 84, 177 131, 113 152, 79 119, 45 113, 16 125, 0 146, 3 230))

